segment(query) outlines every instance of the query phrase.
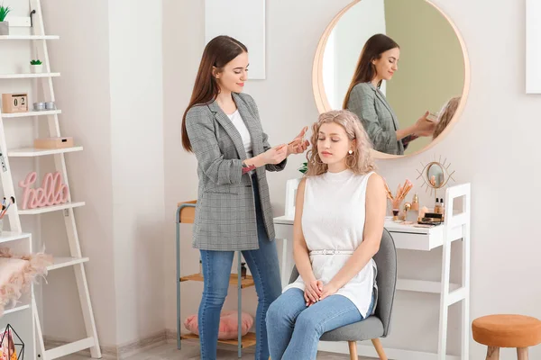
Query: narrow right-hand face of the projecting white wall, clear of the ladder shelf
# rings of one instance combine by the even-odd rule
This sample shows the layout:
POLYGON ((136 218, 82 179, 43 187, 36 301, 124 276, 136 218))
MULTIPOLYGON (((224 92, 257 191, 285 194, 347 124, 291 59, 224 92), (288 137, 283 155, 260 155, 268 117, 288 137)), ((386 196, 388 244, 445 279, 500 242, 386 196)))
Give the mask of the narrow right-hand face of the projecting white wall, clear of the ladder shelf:
POLYGON ((109 1, 116 343, 163 329, 161 4, 109 1))

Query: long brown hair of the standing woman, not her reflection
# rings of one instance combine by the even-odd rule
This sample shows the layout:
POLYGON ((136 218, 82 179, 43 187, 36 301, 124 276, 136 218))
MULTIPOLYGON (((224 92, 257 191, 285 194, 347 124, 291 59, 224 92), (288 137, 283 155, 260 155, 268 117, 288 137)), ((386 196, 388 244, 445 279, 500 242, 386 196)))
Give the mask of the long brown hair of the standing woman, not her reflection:
POLYGON ((191 99, 184 115, 182 115, 182 148, 186 151, 192 151, 186 130, 186 114, 193 106, 212 103, 220 93, 220 87, 216 82, 215 76, 213 76, 213 67, 216 67, 217 71, 221 71, 229 61, 243 52, 248 52, 248 49, 241 41, 230 36, 216 36, 206 44, 201 62, 199 63, 199 70, 197 70, 191 99))

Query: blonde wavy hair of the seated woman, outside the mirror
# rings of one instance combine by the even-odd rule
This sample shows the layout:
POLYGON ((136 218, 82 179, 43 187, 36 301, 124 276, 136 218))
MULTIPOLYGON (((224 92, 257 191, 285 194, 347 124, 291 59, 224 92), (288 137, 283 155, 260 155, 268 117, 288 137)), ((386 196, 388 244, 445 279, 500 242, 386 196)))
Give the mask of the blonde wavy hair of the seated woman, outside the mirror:
POLYGON ((307 151, 307 176, 322 175, 327 171, 327 165, 323 164, 317 152, 317 138, 319 129, 325 123, 332 123, 342 126, 351 141, 357 140, 353 154, 347 155, 345 164, 353 173, 364 175, 376 169, 371 157, 372 144, 368 134, 362 127, 361 121, 353 112, 348 110, 332 110, 319 115, 317 122, 312 125, 312 148, 307 151))

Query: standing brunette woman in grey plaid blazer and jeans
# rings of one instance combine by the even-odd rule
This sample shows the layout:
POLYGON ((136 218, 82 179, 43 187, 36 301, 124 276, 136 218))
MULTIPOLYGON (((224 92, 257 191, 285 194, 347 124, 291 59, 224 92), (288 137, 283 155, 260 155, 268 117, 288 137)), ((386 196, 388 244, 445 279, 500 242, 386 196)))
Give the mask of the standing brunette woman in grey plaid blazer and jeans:
POLYGON ((308 145, 305 128, 288 145, 271 148, 252 96, 241 94, 247 71, 248 50, 240 41, 210 40, 182 118, 182 146, 195 153, 199 178, 193 247, 200 250, 204 276, 197 316, 201 359, 216 358, 237 250, 243 251, 258 294, 255 358, 269 358, 265 315, 281 283, 266 172, 283 170, 289 154, 308 145))

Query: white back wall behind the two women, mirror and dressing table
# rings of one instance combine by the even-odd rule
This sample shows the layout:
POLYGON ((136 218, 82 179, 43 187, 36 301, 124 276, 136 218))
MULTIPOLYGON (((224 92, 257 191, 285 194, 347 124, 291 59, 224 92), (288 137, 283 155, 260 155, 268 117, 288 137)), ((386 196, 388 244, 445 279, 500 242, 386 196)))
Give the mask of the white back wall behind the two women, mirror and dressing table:
MULTIPOLYGON (((541 99, 524 94, 524 4, 512 0, 501 1, 498 6, 491 6, 488 0, 435 2, 462 31, 472 67, 470 96, 462 120, 444 141, 417 157, 380 161, 381 174, 391 188, 409 178, 421 201, 426 202, 428 196, 416 181, 416 168, 419 162, 440 155, 447 157, 456 170, 457 182, 472 182, 472 319, 491 312, 518 312, 541 318, 541 288, 536 285, 536 274, 541 271, 541 246, 537 240, 541 230, 535 221, 524 221, 524 211, 533 211, 536 200, 532 196, 539 191, 539 184, 533 181, 538 171, 531 165, 541 160, 536 148, 541 125, 535 121, 541 99), (491 16, 476 17, 472 22, 472 14, 483 14, 487 6, 491 6, 491 16), (509 121, 525 126, 509 125, 509 121)), ((268 77, 265 81, 249 81, 246 92, 259 105, 271 143, 288 140, 297 129, 316 121, 311 87, 316 44, 327 23, 346 4, 348 0, 268 2, 268 77)), ((168 45, 164 47, 166 222, 172 224, 176 203, 197 195, 196 161, 180 147, 180 117, 204 46, 203 4, 165 0, 164 14, 164 42, 168 45)), ((284 172, 269 175, 276 215, 283 213, 285 181, 298 176, 296 168, 302 161, 303 157, 291 157, 284 172)), ((189 230, 184 235, 182 259, 186 274, 197 271, 197 252, 190 248, 189 230)), ((166 229, 166 241, 166 324, 168 329, 176 329, 172 226, 166 229)), ((401 274, 436 279, 441 252, 420 260, 417 255, 399 254, 401 274), (416 271, 419 263, 425 275, 416 271)), ((182 298, 185 317, 197 312, 201 286, 182 286, 186 289, 182 298)), ((245 293, 246 302, 253 305, 256 298, 252 289, 245 293)), ((397 299, 393 333, 385 345, 413 348, 419 347, 420 339, 426 339, 421 347, 436 351, 437 297, 398 293, 397 299)), ((253 306, 245 309, 252 311, 253 306)), ((450 316, 457 314, 453 309, 450 316)), ((454 321, 449 336, 454 351, 457 326, 454 321)), ((472 359, 482 358, 486 351, 473 341, 471 349, 472 359)), ((541 357, 541 347, 531 348, 530 354, 532 358, 541 357)), ((504 350, 501 357, 506 360, 515 356, 512 350, 504 350)))

